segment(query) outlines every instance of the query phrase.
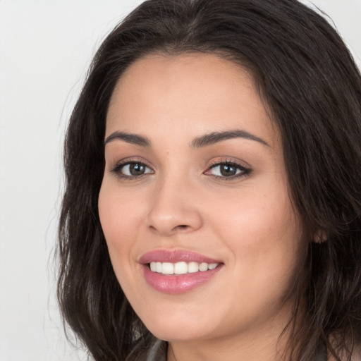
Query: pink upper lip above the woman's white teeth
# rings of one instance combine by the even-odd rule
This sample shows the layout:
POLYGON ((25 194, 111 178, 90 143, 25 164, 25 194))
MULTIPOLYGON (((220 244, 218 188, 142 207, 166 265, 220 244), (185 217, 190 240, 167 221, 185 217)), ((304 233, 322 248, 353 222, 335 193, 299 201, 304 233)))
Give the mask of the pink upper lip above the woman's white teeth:
POLYGON ((146 252, 139 259, 141 264, 150 262, 198 262, 198 263, 221 263, 217 259, 212 259, 207 256, 201 255, 197 252, 189 250, 152 250, 146 252))

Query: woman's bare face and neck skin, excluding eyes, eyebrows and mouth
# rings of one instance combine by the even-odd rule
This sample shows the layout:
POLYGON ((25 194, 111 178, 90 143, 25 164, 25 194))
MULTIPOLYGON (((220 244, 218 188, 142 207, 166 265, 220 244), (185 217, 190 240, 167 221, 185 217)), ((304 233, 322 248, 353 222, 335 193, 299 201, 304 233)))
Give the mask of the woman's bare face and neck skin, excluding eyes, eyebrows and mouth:
POLYGON ((111 97, 106 138, 120 131, 152 145, 106 143, 99 216, 118 281, 147 328, 169 341, 168 360, 280 360, 302 226, 279 131, 250 74, 209 54, 140 59, 111 97), (267 145, 234 137, 190 146, 229 130, 267 145), (114 171, 119 161, 145 164, 146 173, 127 178, 126 166, 114 171), (212 166, 224 161, 251 171, 222 177, 212 166), (194 290, 161 293, 138 262, 157 249, 198 252, 224 266, 194 290))

